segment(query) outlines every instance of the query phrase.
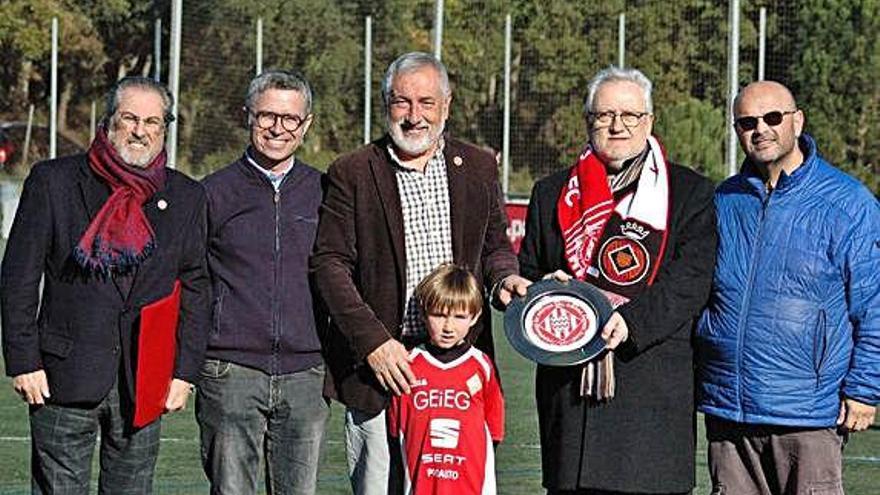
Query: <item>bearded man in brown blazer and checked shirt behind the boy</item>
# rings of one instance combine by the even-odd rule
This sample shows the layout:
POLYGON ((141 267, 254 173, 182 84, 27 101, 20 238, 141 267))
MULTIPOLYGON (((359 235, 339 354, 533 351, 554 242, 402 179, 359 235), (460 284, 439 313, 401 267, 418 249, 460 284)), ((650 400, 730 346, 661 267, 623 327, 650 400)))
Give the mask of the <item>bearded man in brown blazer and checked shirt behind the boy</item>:
MULTIPOLYGON (((443 133, 452 94, 446 68, 408 53, 385 73, 388 132, 339 158, 310 261, 331 318, 325 392, 346 405, 346 451, 355 494, 388 491, 385 407, 415 377, 407 347, 425 335, 415 286, 440 263, 468 267, 497 303, 524 295, 505 230, 495 159, 443 133)), ((490 312, 471 333, 491 354, 490 312)))

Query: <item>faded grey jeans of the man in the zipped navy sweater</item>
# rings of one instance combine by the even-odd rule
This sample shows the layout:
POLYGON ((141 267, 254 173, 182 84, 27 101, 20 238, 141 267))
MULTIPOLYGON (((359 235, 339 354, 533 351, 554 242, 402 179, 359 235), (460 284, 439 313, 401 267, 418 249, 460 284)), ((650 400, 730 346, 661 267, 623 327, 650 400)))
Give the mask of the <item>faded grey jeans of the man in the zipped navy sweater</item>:
POLYGON ((323 365, 268 375, 206 360, 196 392, 196 419, 211 493, 256 493, 262 455, 269 495, 314 494, 330 411, 323 385, 323 365))

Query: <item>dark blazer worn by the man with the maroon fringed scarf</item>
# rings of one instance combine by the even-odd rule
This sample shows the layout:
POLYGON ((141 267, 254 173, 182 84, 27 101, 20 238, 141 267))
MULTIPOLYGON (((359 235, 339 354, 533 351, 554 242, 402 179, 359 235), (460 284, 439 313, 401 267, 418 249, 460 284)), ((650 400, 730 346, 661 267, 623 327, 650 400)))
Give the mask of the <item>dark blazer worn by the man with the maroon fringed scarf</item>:
POLYGON ((6 246, 0 272, 6 374, 45 369, 52 403, 100 401, 120 367, 133 395, 140 308, 170 294, 176 279, 182 290, 175 377, 194 383, 204 358, 210 286, 202 186, 168 170, 165 188, 143 206, 156 249, 130 287, 86 276, 72 257, 109 194, 85 155, 37 164, 6 246))

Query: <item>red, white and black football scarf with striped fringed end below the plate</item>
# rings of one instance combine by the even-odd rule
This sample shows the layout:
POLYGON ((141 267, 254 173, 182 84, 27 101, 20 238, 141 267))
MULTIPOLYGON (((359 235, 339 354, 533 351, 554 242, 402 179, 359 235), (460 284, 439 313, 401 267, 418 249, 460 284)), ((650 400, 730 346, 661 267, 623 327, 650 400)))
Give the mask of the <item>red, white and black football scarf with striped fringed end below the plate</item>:
MULTIPOLYGON (((632 183, 612 191, 605 164, 588 146, 557 202, 569 272, 601 289, 615 308, 654 282, 666 250, 669 169, 655 137, 648 137, 638 166, 641 171, 632 183)), ((613 363, 610 352, 587 363, 581 393, 612 398, 613 363)))

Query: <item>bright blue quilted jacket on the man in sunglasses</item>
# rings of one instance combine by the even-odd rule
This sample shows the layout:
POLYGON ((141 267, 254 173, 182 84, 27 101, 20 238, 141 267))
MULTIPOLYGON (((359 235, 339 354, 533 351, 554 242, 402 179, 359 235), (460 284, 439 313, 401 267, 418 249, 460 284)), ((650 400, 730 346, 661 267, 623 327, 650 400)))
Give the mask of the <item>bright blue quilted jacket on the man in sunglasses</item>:
POLYGON ((803 165, 771 194, 749 163, 715 192, 697 400, 729 421, 828 427, 841 395, 880 402, 880 205, 799 144, 803 165))

